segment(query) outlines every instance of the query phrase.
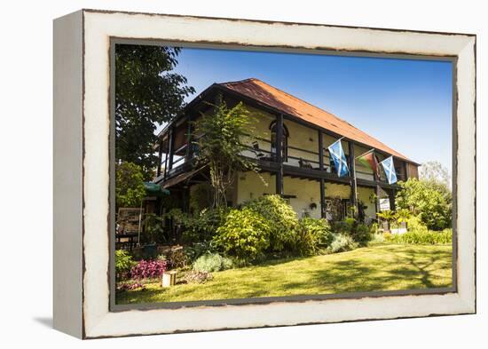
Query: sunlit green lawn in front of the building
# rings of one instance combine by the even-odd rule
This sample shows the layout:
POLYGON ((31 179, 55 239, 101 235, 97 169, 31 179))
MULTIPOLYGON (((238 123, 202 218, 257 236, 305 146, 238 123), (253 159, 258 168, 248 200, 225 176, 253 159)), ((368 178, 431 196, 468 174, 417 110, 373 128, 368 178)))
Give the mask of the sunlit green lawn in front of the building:
POLYGON ((452 285, 451 245, 382 244, 214 273, 204 284, 160 282, 118 293, 117 304, 412 290, 452 285))

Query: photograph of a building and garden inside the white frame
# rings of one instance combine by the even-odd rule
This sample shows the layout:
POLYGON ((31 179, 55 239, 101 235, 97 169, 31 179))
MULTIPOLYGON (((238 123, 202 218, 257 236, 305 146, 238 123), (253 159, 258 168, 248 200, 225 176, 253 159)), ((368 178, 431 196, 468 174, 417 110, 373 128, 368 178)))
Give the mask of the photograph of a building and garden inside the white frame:
POLYGON ((114 44, 116 305, 453 287, 453 61, 114 44))

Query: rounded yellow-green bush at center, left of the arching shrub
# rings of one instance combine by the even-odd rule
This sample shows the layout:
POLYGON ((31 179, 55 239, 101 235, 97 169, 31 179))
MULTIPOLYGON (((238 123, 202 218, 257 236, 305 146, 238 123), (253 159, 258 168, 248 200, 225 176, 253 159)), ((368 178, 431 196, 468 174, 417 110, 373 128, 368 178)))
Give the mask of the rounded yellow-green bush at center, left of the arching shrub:
POLYGON ((216 231, 213 242, 224 252, 253 260, 262 258, 270 247, 272 223, 248 207, 231 210, 216 231))

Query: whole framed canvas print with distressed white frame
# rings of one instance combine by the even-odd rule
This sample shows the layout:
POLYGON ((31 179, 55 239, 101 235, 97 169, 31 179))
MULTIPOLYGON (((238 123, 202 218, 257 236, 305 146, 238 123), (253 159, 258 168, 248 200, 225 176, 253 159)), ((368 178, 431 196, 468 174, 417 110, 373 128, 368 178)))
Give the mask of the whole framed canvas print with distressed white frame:
POLYGON ((54 326, 476 312, 476 36, 54 21, 54 326))

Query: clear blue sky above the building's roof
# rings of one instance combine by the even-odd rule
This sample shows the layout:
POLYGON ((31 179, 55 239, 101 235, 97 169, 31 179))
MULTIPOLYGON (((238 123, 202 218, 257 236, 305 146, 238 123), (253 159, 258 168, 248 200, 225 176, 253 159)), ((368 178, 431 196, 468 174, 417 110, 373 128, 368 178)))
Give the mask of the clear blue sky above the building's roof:
POLYGON ((256 77, 451 173, 451 62, 190 48, 178 62, 196 94, 211 83, 256 77))

